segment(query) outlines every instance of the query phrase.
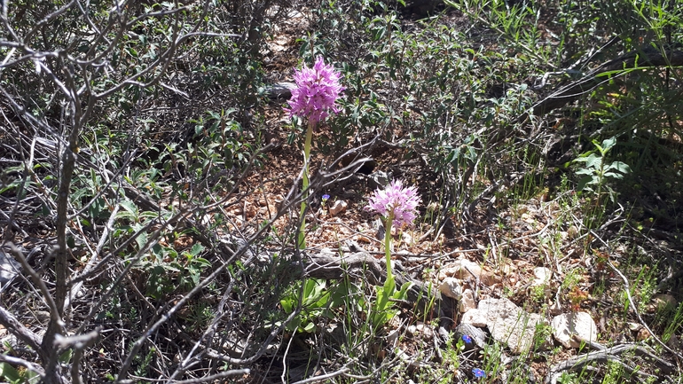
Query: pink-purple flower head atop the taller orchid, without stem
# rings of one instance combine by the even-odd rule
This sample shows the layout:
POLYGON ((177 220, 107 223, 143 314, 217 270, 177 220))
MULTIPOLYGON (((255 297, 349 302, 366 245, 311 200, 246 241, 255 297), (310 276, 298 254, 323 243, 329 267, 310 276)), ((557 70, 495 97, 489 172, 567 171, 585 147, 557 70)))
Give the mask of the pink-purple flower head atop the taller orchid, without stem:
POLYGON ((304 64, 300 71, 294 69, 296 88, 289 99, 290 108, 285 108, 290 116, 308 117, 313 124, 323 121, 329 111, 339 112, 335 104, 342 97, 344 87, 339 83, 342 74, 334 71, 334 67, 326 65, 318 56, 312 68, 304 64))

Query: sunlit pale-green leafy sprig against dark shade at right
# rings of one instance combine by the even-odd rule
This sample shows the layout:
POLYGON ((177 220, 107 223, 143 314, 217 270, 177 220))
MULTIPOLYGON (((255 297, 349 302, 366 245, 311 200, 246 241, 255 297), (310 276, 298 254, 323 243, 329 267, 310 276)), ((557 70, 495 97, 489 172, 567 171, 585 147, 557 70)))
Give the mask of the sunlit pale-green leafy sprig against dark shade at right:
POLYGON ((607 190, 609 200, 614 202, 616 199, 616 192, 605 183, 606 178, 622 179, 625 174, 631 172, 631 168, 623 161, 607 162, 607 154, 616 145, 616 137, 603 140, 602 144, 598 144, 596 140, 593 140, 593 145, 595 145, 598 153, 593 151, 584 153, 574 162, 585 164, 584 168, 577 169, 577 175, 584 176, 579 180, 577 190, 595 192, 597 196, 595 204, 598 206, 601 202, 603 188, 607 190))

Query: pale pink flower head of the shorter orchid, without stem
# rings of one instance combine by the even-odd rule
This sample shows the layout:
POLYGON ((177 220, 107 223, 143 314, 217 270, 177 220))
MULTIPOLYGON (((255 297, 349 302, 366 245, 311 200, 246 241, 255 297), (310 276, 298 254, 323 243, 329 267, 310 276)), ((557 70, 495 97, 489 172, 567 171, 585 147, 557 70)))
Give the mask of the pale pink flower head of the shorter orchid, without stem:
POLYGON ((389 217, 393 213, 394 223, 401 227, 405 224, 411 225, 415 220, 418 204, 420 196, 417 188, 404 188, 401 180, 394 180, 383 191, 375 191, 365 209, 373 210, 384 217, 389 217))

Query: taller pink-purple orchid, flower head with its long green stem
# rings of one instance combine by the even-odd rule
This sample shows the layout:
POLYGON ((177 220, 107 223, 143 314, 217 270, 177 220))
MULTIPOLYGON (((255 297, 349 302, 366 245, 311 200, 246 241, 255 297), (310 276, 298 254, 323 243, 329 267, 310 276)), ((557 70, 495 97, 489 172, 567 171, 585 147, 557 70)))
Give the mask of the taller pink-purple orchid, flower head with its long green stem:
POLYGON ((342 97, 345 89, 340 84, 342 74, 334 71, 334 67, 326 65, 323 58, 318 56, 312 68, 304 64, 301 70, 294 69, 294 82, 296 88, 292 90, 292 98, 289 99, 289 108, 285 111, 290 116, 298 116, 308 119, 306 129, 306 141, 303 145, 303 200, 301 208, 302 224, 299 230, 297 247, 306 247, 305 227, 306 227, 306 200, 309 192, 309 161, 310 161, 310 142, 313 137, 313 129, 318 122, 324 121, 330 113, 338 113, 339 106, 336 101, 342 97))

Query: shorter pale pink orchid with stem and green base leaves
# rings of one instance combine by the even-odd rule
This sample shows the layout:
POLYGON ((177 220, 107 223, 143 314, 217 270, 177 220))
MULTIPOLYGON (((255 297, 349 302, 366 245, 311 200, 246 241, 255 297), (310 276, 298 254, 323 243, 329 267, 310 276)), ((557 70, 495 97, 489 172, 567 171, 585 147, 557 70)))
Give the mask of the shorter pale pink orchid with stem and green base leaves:
POLYGON ((377 302, 373 310, 373 324, 382 325, 394 317, 396 310, 391 310, 391 299, 404 300, 410 283, 401 286, 396 292, 396 280, 391 271, 391 228, 393 225, 403 228, 412 225, 417 217, 417 207, 420 204, 417 188, 405 187, 401 180, 394 180, 384 190, 377 190, 370 198, 367 210, 376 212, 384 217, 384 255, 387 263, 387 280, 379 289, 377 302))

